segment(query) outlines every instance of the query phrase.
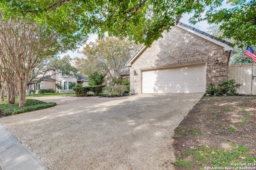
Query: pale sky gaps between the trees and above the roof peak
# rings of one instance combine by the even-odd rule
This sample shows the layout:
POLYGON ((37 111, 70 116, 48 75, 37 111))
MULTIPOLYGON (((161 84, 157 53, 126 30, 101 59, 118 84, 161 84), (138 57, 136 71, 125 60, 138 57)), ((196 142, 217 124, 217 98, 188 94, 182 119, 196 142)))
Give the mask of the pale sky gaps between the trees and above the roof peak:
MULTIPOLYGON (((183 17, 180 19, 180 22, 191 25, 193 27, 195 27, 196 29, 199 29, 201 31, 206 31, 207 28, 210 26, 206 21, 201 21, 199 23, 196 23, 196 25, 192 25, 188 22, 189 18, 192 16, 192 14, 184 14, 183 17)), ((88 40, 86 41, 87 43, 91 42, 91 41, 95 41, 95 39, 97 39, 98 36, 96 34, 90 35, 90 37, 88 38, 88 40)), ((80 49, 78 49, 79 51, 82 51, 82 46, 80 47, 80 49)), ((64 57, 65 55, 70 55, 71 58, 74 57, 82 57, 83 55, 80 53, 77 53, 77 51, 67 51, 66 53, 60 54, 60 57, 64 57)))

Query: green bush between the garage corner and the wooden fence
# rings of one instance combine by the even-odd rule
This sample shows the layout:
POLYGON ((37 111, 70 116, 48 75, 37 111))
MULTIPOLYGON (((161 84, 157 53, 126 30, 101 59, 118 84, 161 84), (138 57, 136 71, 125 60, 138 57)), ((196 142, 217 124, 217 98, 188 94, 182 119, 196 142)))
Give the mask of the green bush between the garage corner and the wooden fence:
POLYGON ((237 95, 237 89, 240 88, 242 84, 238 84, 235 80, 228 80, 226 82, 222 82, 218 85, 211 83, 207 89, 207 94, 226 94, 226 95, 237 95))

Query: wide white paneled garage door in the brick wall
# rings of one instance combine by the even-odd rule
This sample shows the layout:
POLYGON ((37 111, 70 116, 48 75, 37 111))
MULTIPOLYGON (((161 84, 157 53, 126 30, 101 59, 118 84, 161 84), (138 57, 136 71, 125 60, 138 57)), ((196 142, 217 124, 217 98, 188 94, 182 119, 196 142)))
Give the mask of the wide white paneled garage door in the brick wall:
POLYGON ((142 93, 204 93, 205 64, 142 72, 142 93))

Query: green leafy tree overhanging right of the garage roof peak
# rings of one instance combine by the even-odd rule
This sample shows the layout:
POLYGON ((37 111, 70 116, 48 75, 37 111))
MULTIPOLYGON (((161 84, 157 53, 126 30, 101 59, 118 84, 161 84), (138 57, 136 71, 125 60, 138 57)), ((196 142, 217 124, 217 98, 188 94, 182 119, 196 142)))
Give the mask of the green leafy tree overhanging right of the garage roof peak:
POLYGON ((230 8, 219 9, 223 0, 205 1, 207 12, 204 18, 196 12, 191 23, 206 20, 208 23, 220 24, 223 37, 233 40, 233 44, 240 48, 256 44, 256 1, 228 0, 230 8), (206 3, 207 2, 207 3, 206 3), (210 3, 208 3, 210 2, 210 3))

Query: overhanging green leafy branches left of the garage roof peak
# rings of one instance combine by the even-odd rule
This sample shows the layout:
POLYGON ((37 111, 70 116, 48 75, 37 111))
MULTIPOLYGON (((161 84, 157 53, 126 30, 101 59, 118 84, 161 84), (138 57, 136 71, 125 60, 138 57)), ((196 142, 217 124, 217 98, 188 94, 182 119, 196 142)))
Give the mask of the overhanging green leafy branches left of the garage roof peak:
MULTIPOLYGON (((211 0, 210 0, 211 1, 211 0)), ((213 0, 212 0, 213 1, 213 0)), ((1 0, 8 16, 30 16, 60 33, 129 37, 150 46, 181 14, 201 7, 194 0, 1 0)), ((79 36, 77 36, 79 38, 79 36)))

